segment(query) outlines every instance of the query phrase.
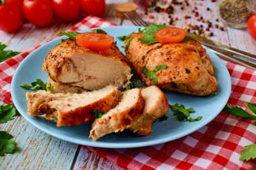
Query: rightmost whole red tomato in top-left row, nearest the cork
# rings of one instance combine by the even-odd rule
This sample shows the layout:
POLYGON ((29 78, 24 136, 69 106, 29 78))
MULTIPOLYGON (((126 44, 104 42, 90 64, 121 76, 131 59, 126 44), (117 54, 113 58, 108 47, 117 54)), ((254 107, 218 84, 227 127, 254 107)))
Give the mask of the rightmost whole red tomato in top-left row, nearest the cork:
POLYGON ((87 15, 101 17, 106 9, 105 0, 80 0, 82 9, 87 15))

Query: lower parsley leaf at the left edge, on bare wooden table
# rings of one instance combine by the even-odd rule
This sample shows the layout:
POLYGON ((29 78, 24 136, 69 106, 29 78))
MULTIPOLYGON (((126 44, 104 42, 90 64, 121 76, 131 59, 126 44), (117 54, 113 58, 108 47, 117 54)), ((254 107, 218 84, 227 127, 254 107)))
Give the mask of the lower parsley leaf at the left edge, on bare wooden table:
POLYGON ((6 131, 0 131, 0 156, 3 157, 5 153, 13 153, 16 148, 16 142, 10 140, 13 138, 11 134, 6 131))

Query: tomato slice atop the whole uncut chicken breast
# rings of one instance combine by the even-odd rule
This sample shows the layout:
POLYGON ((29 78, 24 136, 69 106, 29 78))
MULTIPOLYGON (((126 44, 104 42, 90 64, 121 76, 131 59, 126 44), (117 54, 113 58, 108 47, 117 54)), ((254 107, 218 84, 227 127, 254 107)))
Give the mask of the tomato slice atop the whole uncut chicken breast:
POLYGON ((177 27, 162 28, 155 32, 156 40, 162 44, 181 42, 186 36, 186 30, 177 27))

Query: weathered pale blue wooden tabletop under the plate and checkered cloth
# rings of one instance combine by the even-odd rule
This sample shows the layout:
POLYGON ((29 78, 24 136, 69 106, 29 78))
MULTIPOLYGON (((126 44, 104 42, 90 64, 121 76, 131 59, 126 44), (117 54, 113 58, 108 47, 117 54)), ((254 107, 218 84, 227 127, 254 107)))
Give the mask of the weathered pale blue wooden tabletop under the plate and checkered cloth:
MULTIPOLYGON (((122 20, 116 17, 115 3, 119 2, 121 0, 106 0, 106 12, 102 19, 122 26, 133 26, 129 20, 122 20)), ((203 25, 203 29, 205 29, 207 24, 198 22, 198 17, 194 17, 194 13, 192 13, 195 7, 197 7, 196 11, 199 12, 199 16, 203 16, 205 20, 209 19, 213 24, 223 26, 221 22, 216 22, 218 18, 216 15, 216 3, 210 0, 189 1, 189 6, 183 2, 182 5, 173 5, 173 7, 174 13, 171 14, 171 17, 178 18, 177 21, 173 22, 173 26, 183 28, 189 24, 193 26, 203 25), (181 7, 183 7, 183 10, 181 10, 181 7), (207 7, 210 7, 210 11, 207 10, 207 7), (184 19, 185 15, 191 15, 191 18, 184 19)), ((145 21, 169 25, 170 18, 168 13, 151 11, 146 15, 143 9, 137 10, 137 13, 145 21), (154 18, 150 18, 150 15, 154 18)), ((57 32, 71 28, 84 17, 86 15, 81 15, 75 22, 63 22, 55 18, 53 24, 47 28, 36 28, 32 24, 25 22, 13 34, 0 31, 0 42, 7 44, 7 49, 25 52, 46 42, 46 40, 54 38, 57 32)), ((245 29, 237 30, 226 27, 224 31, 221 31, 212 27, 210 32, 214 32, 214 36, 211 37, 212 40, 256 54, 256 41, 249 36, 245 29)), ((122 169, 77 144, 60 140, 38 130, 22 116, 17 116, 15 120, 11 120, 6 124, 0 124, 0 130, 5 130, 13 135, 13 140, 18 144, 18 149, 13 155, 6 154, 4 157, 0 157, 1 169, 122 169)))

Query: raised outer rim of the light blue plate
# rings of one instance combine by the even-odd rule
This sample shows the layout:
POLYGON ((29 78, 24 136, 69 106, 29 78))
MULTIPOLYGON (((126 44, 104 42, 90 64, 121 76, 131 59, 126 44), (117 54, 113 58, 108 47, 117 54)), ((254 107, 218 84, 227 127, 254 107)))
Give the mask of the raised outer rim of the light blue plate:
MULTIPOLYGON (((100 29, 104 30, 106 29, 106 32, 108 29, 111 29, 111 28, 121 28, 121 29, 127 29, 127 28, 143 28, 143 27, 140 27, 140 26, 110 26, 110 27, 100 27, 100 29)), ((91 29, 86 29, 86 30, 81 30, 79 32, 88 32, 90 30, 94 30, 94 29, 97 29, 97 28, 91 28, 91 29)), ((13 79, 11 81, 11 96, 12 96, 12 99, 13 99, 13 103, 18 103, 18 101, 16 99, 18 99, 17 97, 15 97, 15 90, 13 91, 13 89, 15 89, 14 84, 15 84, 15 81, 16 81, 16 76, 18 74, 18 71, 22 68, 22 65, 25 65, 24 63, 26 63, 26 60, 29 60, 29 58, 31 58, 33 56, 34 53, 36 53, 37 50, 40 50, 41 48, 44 48, 44 46, 49 46, 49 43, 53 42, 53 41, 57 41, 57 40, 61 40, 63 38, 63 36, 60 36, 58 38, 55 38, 49 42, 46 42, 44 44, 42 44, 42 46, 36 48, 35 50, 33 50, 30 54, 28 54, 28 56, 26 56, 26 58, 24 58, 24 60, 22 60, 22 62, 20 63, 20 65, 18 66, 18 68, 16 69, 14 75, 13 75, 13 79)), ((176 140, 178 138, 182 138, 184 136, 187 136, 188 134, 191 134, 197 130, 199 130, 200 128, 202 128, 203 126, 205 126, 206 124, 208 124, 209 122, 211 122, 212 120, 214 120, 214 118, 216 118, 216 116, 218 116, 218 114, 220 114, 220 112, 222 111, 222 109, 224 108, 224 106, 226 105, 229 97, 230 97, 230 93, 231 93, 231 77, 230 77, 230 74, 228 72, 228 69, 226 68, 226 65, 224 64, 224 62, 216 55, 214 54, 213 52, 211 52, 209 50, 209 48, 203 46, 206 50, 207 50, 207 54, 211 54, 214 55, 214 59, 218 60, 218 62, 222 63, 222 65, 218 66, 218 67, 221 67, 221 69, 226 69, 226 73, 228 73, 228 85, 227 85, 227 88, 228 88, 228 93, 226 93, 225 97, 225 102, 222 103, 222 105, 218 108, 218 112, 217 114, 214 114, 214 115, 210 115, 210 119, 208 118, 207 120, 204 120, 202 124, 200 124, 200 127, 197 127, 196 128, 192 128, 190 130, 187 130, 185 132, 181 132, 181 134, 179 135, 175 135, 174 137, 170 138, 158 138, 158 139, 155 139, 155 140, 150 140, 150 141, 143 141, 143 142, 135 142, 135 143, 132 143, 132 144, 129 144, 129 143, 117 143, 117 142, 104 142, 104 141, 96 141, 94 142, 93 140, 88 142, 88 141, 83 141, 83 140, 79 140, 79 139, 75 139, 72 140, 72 138, 70 137, 67 137, 67 136, 58 136, 57 134, 55 134, 54 132, 51 132, 47 129, 45 129, 44 127, 36 124, 36 122, 33 122, 32 118, 29 118, 30 116, 28 116, 26 113, 22 113, 20 112, 20 110, 22 110, 20 108, 20 105, 18 105, 17 110, 20 112, 20 114, 28 121, 30 122, 30 124, 32 124, 33 126, 35 126, 36 128, 38 128, 39 130, 42 130, 43 132, 46 132, 46 134, 50 134, 51 136, 55 136, 56 138, 59 138, 61 140, 65 140, 65 141, 68 141, 68 142, 72 142, 72 143, 76 143, 76 144, 82 144, 82 145, 86 145, 86 146, 94 146, 94 147, 101 147, 101 148, 135 148, 135 147, 141 147, 141 146, 151 146, 151 145, 155 145, 155 144, 161 144, 161 143, 164 143, 164 142, 170 142, 172 140, 176 140)), ((212 59, 212 57, 210 56, 210 58, 212 59)), ((218 63, 218 64, 220 64, 218 63)), ((16 104, 15 104, 16 106, 16 104)), ((139 137, 139 136, 138 136, 139 137)))

